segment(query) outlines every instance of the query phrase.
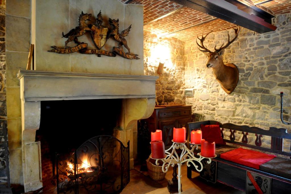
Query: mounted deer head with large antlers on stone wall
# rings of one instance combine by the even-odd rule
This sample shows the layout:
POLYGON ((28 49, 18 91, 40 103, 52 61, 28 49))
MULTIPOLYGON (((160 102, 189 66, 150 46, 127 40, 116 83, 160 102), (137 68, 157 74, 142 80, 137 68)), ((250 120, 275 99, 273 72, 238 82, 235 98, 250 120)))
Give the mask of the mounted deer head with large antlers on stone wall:
POLYGON ((224 49, 227 48, 231 43, 233 43, 233 41, 235 41, 235 39, 237 38, 237 36, 240 32, 239 27, 233 28, 233 29, 235 30, 235 37, 230 41, 229 34, 227 32, 228 42, 226 43, 225 46, 223 46, 224 45, 224 43, 223 43, 219 49, 217 49, 216 45, 215 45, 214 52, 211 52, 209 49, 207 49, 203 45, 203 41, 205 40, 207 35, 210 34, 212 31, 208 32, 205 36, 203 36, 203 34, 202 34, 201 39, 197 35, 197 38, 200 40, 200 45, 198 44, 197 39, 196 39, 197 45, 200 48, 202 48, 203 50, 201 50, 199 47, 198 47, 198 49, 202 52, 205 52, 208 56, 206 67, 213 68, 213 74, 214 74, 215 78, 221 84, 222 89, 227 94, 230 94, 231 92, 233 92, 233 90, 237 86, 237 82, 238 82, 238 78, 239 78, 239 73, 238 73, 237 67, 232 63, 224 64, 223 60, 222 60, 222 55, 224 53, 224 49))

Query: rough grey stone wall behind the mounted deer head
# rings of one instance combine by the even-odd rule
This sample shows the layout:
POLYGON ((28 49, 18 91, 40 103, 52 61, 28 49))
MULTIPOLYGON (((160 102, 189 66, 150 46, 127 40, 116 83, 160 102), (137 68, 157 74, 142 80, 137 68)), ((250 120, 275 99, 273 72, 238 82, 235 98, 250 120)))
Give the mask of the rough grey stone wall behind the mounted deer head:
MULTIPOLYGON (((195 89, 195 96, 187 97, 186 104, 192 105, 194 113, 221 123, 290 130, 290 126, 281 123, 277 94, 283 91, 288 95, 284 97, 284 119, 290 122, 291 14, 278 15, 273 23, 278 27, 276 31, 264 34, 243 28, 225 50, 224 63, 233 63, 239 69, 239 82, 230 95, 223 91, 212 68, 206 68, 206 56, 196 43, 185 45, 185 87, 195 89)), ((233 37, 234 31, 229 32, 233 37)), ((214 50, 214 45, 220 46, 223 41, 227 41, 226 31, 211 33, 205 46, 214 50)), ((265 143, 267 146, 270 142, 265 143)))

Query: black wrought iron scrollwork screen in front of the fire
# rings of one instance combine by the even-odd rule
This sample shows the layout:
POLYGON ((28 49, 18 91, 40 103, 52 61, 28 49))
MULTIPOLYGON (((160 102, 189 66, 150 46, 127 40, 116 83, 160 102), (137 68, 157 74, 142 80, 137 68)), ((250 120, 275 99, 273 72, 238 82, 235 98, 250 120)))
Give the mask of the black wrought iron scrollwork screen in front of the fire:
POLYGON ((129 141, 100 135, 68 158, 56 153, 57 193, 119 193, 129 183, 129 141))

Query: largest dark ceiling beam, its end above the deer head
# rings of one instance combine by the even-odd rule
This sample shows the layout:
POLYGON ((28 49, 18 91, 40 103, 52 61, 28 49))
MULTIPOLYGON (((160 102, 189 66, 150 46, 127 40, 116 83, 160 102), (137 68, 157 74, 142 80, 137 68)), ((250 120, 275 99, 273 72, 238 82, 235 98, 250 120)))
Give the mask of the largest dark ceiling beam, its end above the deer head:
POLYGON ((207 13, 222 20, 245 27, 258 33, 271 32, 276 26, 264 19, 239 10, 235 5, 223 0, 170 0, 177 4, 207 13))

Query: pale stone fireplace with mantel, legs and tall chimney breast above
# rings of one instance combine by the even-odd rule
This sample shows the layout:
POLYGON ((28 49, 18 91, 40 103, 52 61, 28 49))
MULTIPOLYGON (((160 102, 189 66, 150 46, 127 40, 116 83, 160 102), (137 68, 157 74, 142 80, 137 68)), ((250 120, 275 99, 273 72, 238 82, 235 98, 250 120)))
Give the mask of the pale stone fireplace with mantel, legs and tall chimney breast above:
MULTIPOLYGON (((30 10, 31 20, 27 25, 30 40, 25 42, 25 46, 34 44, 34 70, 22 70, 25 69, 25 61, 15 69, 14 75, 21 69, 17 75, 19 85, 13 88, 17 94, 15 102, 19 99, 19 93, 21 102, 8 107, 8 111, 12 108, 19 111, 17 115, 11 114, 19 119, 19 130, 13 125, 8 126, 10 131, 15 131, 15 138, 10 141, 15 143, 15 150, 10 148, 9 159, 14 161, 10 162, 11 183, 15 188, 19 186, 20 190, 24 186, 25 191, 38 189, 42 185, 41 149, 40 142, 36 141, 42 101, 121 99, 120 130, 116 136, 123 144, 130 140, 132 167, 134 145, 137 144, 136 120, 151 115, 155 106, 157 79, 143 75, 143 6, 125 5, 118 0, 32 0, 30 10), (120 32, 132 25, 126 40, 132 53, 139 55, 139 60, 77 52, 67 55, 47 52, 53 45, 64 47, 66 39, 61 34, 78 26, 82 11, 92 14, 92 20, 87 23, 94 24, 100 10, 104 26, 110 28, 109 18, 119 19, 120 32)), ((95 49, 90 33, 78 40, 88 43, 88 49, 95 49)), ((69 46, 76 44, 70 43, 69 46)), ((118 46, 118 42, 108 39, 102 50, 112 51, 113 46, 118 46)), ((24 54, 26 58, 27 54, 24 54)))

